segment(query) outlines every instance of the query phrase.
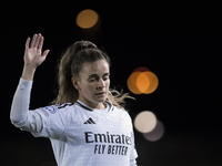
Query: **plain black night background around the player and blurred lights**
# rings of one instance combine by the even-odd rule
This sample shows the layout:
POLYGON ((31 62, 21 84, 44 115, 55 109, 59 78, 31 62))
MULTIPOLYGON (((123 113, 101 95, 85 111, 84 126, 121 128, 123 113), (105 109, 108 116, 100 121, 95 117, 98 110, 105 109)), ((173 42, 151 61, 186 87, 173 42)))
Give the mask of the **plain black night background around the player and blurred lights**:
POLYGON ((127 79, 138 66, 149 68, 159 77, 154 93, 130 93, 137 101, 128 101, 132 118, 149 110, 165 128, 157 142, 134 132, 139 166, 222 165, 219 7, 212 1, 171 0, 2 3, 1 165, 53 165, 50 141, 20 132, 9 118, 26 39, 39 32, 46 38, 43 50, 50 49, 50 53, 36 73, 31 108, 48 105, 56 97, 60 54, 78 40, 90 40, 112 60, 112 87, 129 92, 127 79), (99 30, 77 27, 75 17, 83 9, 100 14, 99 30))

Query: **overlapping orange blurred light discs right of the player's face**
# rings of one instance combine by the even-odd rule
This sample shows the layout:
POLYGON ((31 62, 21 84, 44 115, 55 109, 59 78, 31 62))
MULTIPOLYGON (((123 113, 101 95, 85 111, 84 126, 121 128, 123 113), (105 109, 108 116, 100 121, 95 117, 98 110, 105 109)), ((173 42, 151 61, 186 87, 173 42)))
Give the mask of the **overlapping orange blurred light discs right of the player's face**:
POLYGON ((159 85, 158 76, 148 68, 140 66, 133 70, 128 77, 128 87, 134 94, 150 94, 153 93, 159 85))

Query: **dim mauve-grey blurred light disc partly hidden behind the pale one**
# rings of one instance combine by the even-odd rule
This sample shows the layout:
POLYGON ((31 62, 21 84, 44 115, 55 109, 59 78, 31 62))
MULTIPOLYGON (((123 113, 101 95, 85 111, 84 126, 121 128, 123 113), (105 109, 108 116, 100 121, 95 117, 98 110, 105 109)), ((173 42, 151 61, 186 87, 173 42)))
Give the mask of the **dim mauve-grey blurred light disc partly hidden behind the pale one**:
POLYGON ((163 134, 164 126, 160 121, 157 121, 155 127, 149 133, 143 133, 143 136, 150 142, 155 142, 159 141, 163 136, 163 134))

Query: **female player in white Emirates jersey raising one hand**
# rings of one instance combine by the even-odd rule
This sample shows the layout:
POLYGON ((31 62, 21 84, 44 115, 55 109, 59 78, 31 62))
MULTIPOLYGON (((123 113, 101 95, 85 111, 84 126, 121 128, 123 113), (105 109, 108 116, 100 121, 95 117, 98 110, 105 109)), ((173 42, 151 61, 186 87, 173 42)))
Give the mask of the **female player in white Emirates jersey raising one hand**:
POLYGON ((128 95, 112 95, 110 59, 93 43, 78 41, 68 48, 59 64, 53 105, 29 111, 34 72, 49 53, 41 52, 42 45, 41 34, 26 42, 12 124, 36 137, 49 137, 59 166, 135 166, 132 122, 120 106, 128 95))

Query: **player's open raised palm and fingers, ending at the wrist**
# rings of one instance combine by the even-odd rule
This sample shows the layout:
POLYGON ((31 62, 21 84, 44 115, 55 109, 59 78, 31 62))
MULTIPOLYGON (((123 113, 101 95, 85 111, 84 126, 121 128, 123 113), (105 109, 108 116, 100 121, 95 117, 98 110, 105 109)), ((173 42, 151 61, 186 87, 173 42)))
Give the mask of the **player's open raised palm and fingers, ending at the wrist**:
POLYGON ((30 38, 27 39, 26 42, 26 51, 24 51, 24 64, 30 65, 32 68, 39 66, 47 58, 49 50, 46 50, 42 53, 43 45, 43 37, 39 34, 34 34, 30 44, 30 38))

